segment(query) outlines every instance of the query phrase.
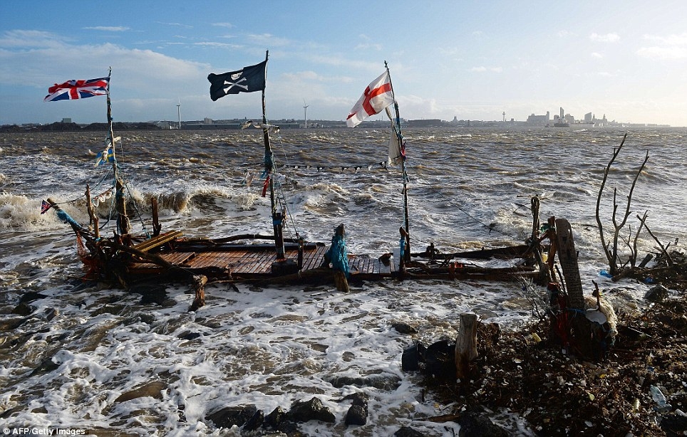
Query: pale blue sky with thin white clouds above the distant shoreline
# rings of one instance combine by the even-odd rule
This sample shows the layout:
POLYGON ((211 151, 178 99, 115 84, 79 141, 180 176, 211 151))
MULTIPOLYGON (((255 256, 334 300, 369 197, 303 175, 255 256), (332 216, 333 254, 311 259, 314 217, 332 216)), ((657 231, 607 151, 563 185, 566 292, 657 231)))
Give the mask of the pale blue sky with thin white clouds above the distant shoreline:
POLYGON ((115 121, 255 118, 259 93, 210 100, 209 73, 264 60, 267 116, 345 120, 391 79, 407 119, 526 120, 564 107, 687 126, 683 1, 0 3, 0 125, 105 122, 105 98, 43 102, 108 75, 115 121))

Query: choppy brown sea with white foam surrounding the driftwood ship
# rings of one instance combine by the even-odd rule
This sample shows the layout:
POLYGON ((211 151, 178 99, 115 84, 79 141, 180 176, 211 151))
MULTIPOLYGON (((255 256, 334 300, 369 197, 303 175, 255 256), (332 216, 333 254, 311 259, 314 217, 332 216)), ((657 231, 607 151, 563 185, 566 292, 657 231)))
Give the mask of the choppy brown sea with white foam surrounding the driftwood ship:
MULTIPOLYGON (((651 284, 612 283, 596 225, 596 199, 614 149, 600 216, 606 235, 627 211, 664 245, 687 241, 687 129, 408 129, 408 203, 413 251, 522 243, 530 199, 540 217, 568 219, 582 283, 596 280, 616 307, 639 309, 651 284)), ((118 162, 132 195, 136 232, 151 232, 150 199, 162 230, 216 238, 270 233, 262 197, 261 130, 134 131, 120 136, 118 162)), ((388 131, 282 130, 272 134, 288 210, 285 235, 329 243, 346 225, 348 250, 391 252, 403 224, 401 172, 386 164, 388 131)), ((154 302, 108 285, 85 283, 71 228, 50 197, 88 223, 86 184, 111 235, 112 174, 94 167, 104 132, 0 134, 0 425, 73 428, 98 436, 241 435, 206 416, 225 406, 277 406, 319 398, 336 423, 311 421, 307 436, 390 436, 410 426, 427 436, 457 435, 458 425, 425 420, 444 406, 421 394, 420 375, 403 372, 403 349, 454 338, 461 312, 503 329, 527 323, 532 308, 517 283, 404 281, 331 286, 206 288, 189 310, 187 284, 166 285, 154 302), (22 303, 23 302, 23 303, 22 303), (417 328, 401 334, 396 322, 417 328), (341 384, 337 381, 357 381, 341 384), (374 382, 377 381, 377 382, 374 382), (383 383, 378 383, 383 381, 383 383), (346 426, 354 392, 369 396, 368 421, 346 426)), ((626 238, 626 236, 624 236, 626 238)), ((648 233, 639 258, 656 252, 648 233)), ((457 400, 458 401, 458 400, 457 400)), ((516 435, 531 435, 517 414, 495 411, 516 435)))

